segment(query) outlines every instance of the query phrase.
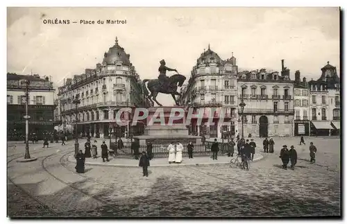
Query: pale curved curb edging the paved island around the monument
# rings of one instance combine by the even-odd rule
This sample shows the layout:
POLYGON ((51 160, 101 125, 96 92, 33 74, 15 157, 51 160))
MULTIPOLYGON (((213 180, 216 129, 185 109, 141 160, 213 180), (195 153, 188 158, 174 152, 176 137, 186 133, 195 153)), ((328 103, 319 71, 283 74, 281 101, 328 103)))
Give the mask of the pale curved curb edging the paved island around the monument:
MULTIPOLYGON (((258 154, 260 155, 260 154, 258 154)), ((70 159, 71 156, 67 157, 67 161, 69 162, 75 162, 75 161, 71 161, 70 159)), ((264 158, 263 155, 260 155, 260 157, 257 157, 253 160, 253 162, 257 162, 260 161, 264 158)), ((199 163, 199 164, 158 164, 158 165, 151 165, 151 167, 162 167, 162 166, 171 166, 171 167, 175 167, 175 166, 222 166, 222 165, 226 165, 229 164, 229 162, 218 162, 218 163, 212 163, 212 162, 203 162, 203 163, 199 163)), ((90 165, 90 166, 112 166, 112 167, 124 167, 124 168, 138 168, 138 165, 133 165, 133 164, 108 164, 108 163, 94 163, 94 162, 85 162, 85 165, 90 165)))

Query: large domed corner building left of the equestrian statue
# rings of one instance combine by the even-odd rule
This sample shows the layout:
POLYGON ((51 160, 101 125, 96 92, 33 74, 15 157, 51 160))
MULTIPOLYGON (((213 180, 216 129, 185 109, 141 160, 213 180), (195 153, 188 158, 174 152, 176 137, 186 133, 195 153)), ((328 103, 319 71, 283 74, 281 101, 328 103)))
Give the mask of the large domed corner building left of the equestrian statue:
MULTIPOLYGON (((120 137, 143 132, 142 123, 133 128, 119 127, 116 123, 116 114, 121 108, 145 107, 149 103, 142 94, 141 80, 130 62, 130 55, 119 45, 117 37, 115 45, 104 53, 102 63, 85 69, 85 74, 67 78, 58 89, 56 119, 72 126, 77 121, 77 133, 81 137, 109 137, 115 128, 120 137), (74 101, 76 98, 78 103, 74 101)), ((129 121, 131 116, 132 113, 122 113, 121 119, 129 121)))

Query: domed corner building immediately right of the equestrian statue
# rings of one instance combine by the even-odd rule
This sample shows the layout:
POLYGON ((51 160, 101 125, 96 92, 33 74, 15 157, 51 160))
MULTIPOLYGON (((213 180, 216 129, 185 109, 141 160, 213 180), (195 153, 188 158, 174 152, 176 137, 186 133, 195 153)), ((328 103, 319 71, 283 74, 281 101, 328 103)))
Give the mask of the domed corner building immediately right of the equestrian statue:
POLYGON ((192 119, 189 130, 192 134, 205 133, 210 137, 221 137, 222 132, 237 132, 237 64, 232 55, 227 60, 222 60, 217 53, 210 49, 201 53, 192 69, 192 75, 187 85, 182 89, 181 105, 197 109, 204 108, 205 115, 202 125, 192 119), (224 122, 228 126, 220 126, 219 112, 221 108, 226 110, 224 122), (208 114, 214 108, 214 125, 204 124, 208 122, 208 114))

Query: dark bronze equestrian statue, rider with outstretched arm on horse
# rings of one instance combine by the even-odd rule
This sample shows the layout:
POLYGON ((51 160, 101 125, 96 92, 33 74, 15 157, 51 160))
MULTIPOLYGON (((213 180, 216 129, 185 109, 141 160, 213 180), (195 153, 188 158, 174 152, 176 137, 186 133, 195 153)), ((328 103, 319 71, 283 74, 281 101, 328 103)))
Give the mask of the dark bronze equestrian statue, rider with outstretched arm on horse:
POLYGON ((160 61, 160 67, 158 69, 159 71, 159 77, 158 79, 145 79, 142 81, 142 89, 144 91, 144 96, 146 96, 149 101, 151 101, 152 106, 154 106, 154 102, 157 103, 160 107, 162 106, 160 103, 158 103, 156 97, 158 96, 158 93, 162 94, 171 94, 172 98, 174 98, 174 101, 176 105, 179 105, 178 100, 176 100, 176 95, 182 96, 179 92, 177 92, 177 87, 182 87, 183 83, 185 82, 185 76, 180 74, 175 74, 173 76, 167 77, 167 71, 178 71, 176 69, 170 69, 169 67, 165 66, 165 61, 160 61), (149 82, 146 88, 146 82, 149 82), (151 94, 149 94, 151 92, 151 94))

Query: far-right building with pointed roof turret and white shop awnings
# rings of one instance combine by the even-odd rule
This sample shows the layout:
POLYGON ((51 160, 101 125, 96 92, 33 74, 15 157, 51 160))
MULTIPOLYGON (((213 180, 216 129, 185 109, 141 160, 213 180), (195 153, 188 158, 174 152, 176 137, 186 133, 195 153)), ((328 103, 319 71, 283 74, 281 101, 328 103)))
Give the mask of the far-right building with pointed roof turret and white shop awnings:
POLYGON ((321 77, 310 80, 310 116, 312 135, 339 135, 340 79, 329 62, 321 68, 321 77))

